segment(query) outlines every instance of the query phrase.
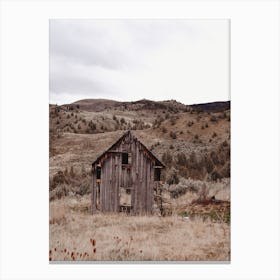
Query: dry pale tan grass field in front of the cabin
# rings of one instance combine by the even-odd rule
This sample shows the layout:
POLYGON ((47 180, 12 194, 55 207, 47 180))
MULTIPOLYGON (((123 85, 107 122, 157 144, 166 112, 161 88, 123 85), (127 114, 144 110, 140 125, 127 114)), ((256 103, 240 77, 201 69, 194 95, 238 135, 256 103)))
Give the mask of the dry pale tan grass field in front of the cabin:
POLYGON ((178 215, 90 215, 71 205, 73 198, 50 203, 51 261, 230 259, 228 224, 178 215))

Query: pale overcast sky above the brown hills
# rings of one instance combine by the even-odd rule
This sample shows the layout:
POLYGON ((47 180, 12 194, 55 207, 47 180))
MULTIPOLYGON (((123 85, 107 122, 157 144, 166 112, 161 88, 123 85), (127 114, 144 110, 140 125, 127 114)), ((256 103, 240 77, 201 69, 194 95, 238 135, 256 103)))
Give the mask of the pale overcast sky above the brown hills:
POLYGON ((50 103, 229 100, 228 20, 50 20, 50 103))

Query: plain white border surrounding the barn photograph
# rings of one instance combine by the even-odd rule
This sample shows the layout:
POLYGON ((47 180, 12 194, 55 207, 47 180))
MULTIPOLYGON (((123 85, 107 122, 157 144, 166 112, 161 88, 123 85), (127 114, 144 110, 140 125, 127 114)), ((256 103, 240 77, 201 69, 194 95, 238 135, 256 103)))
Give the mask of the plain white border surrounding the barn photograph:
POLYGON ((279 2, 1 2, 2 279, 279 279, 279 2), (48 263, 49 18, 230 18, 232 261, 48 263))

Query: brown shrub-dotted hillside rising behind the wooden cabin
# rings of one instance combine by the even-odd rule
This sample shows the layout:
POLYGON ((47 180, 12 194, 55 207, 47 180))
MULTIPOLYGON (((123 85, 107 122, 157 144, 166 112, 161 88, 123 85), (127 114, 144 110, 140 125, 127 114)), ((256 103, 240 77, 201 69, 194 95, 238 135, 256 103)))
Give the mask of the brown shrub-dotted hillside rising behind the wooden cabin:
POLYGON ((50 155, 56 162, 51 174, 62 167, 88 165, 113 144, 111 138, 131 130, 180 176, 229 177, 230 101, 184 105, 175 100, 86 99, 50 105, 49 112, 50 155), (74 148, 72 142, 77 144, 75 155, 69 149, 74 148))

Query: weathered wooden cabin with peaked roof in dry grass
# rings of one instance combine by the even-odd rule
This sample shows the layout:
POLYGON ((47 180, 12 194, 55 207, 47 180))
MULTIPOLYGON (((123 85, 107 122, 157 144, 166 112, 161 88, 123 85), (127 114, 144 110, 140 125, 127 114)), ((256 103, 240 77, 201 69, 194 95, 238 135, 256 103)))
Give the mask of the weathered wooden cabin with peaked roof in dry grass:
POLYGON ((165 166, 130 131, 92 163, 92 210, 151 214, 165 166))

